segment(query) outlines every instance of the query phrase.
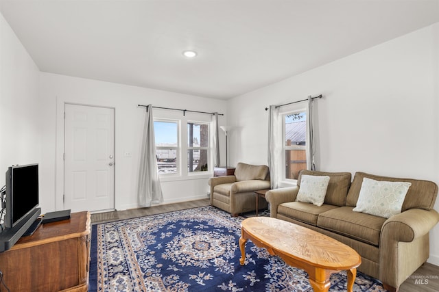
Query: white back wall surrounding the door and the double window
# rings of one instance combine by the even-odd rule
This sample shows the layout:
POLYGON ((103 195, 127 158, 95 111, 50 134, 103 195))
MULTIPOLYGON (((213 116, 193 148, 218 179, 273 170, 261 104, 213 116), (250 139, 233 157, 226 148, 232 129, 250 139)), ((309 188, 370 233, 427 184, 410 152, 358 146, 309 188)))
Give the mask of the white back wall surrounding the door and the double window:
MULTIPOLYGON (((80 79, 50 73, 40 73, 40 101, 43 105, 43 160, 47 167, 40 178, 44 185, 45 201, 43 211, 62 209, 62 147, 64 103, 97 105, 115 108, 115 207, 116 209, 137 208, 137 181, 139 173, 139 152, 145 118, 145 108, 138 105, 152 103, 156 107, 173 107, 195 111, 217 111, 226 114, 226 101, 202 98, 161 90, 151 90, 117 83, 80 79), (123 154, 130 152, 131 157, 123 154)), ((182 118, 180 111, 154 109, 155 118, 182 118)), ((210 115, 186 113, 191 120, 211 120, 210 115)), ((224 124, 226 116, 220 116, 224 124)), ((162 179, 165 203, 206 198, 209 191, 208 178, 185 176, 162 179)))

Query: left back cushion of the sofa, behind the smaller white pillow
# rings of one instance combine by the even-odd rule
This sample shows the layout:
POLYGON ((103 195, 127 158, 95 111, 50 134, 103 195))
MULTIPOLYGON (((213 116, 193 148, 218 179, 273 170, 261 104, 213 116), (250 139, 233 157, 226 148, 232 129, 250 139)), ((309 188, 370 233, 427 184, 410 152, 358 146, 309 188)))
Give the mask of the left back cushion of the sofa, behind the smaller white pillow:
POLYGON ((297 185, 300 188, 302 175, 329 176, 327 195, 324 197, 324 204, 333 204, 342 207, 346 204, 346 196, 351 185, 351 172, 317 172, 314 170, 300 171, 297 185))

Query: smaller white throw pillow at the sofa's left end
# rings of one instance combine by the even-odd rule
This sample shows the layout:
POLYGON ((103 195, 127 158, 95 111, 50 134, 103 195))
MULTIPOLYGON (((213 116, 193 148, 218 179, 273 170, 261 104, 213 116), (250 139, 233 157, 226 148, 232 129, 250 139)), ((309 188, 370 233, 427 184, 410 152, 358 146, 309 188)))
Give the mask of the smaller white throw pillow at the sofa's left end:
POLYGON ((328 184, 329 176, 302 175, 296 201, 322 206, 327 195, 328 184))

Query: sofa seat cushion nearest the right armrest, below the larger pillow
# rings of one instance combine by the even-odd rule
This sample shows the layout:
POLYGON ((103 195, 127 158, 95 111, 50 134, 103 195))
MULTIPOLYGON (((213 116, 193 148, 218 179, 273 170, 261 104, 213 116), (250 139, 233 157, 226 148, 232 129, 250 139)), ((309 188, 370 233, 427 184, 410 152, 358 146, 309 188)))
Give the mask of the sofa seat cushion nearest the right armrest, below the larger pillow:
POLYGON ((353 207, 340 207, 321 213, 317 226, 378 246, 385 220, 384 217, 354 212, 353 207))

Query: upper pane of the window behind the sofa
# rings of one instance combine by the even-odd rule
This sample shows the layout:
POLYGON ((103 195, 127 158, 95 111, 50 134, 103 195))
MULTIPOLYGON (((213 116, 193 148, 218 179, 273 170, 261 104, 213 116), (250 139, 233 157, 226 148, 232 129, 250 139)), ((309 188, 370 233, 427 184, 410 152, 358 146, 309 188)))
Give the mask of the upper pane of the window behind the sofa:
POLYGON ((285 146, 306 144, 307 113, 300 112, 285 116, 285 146))

